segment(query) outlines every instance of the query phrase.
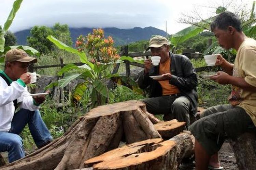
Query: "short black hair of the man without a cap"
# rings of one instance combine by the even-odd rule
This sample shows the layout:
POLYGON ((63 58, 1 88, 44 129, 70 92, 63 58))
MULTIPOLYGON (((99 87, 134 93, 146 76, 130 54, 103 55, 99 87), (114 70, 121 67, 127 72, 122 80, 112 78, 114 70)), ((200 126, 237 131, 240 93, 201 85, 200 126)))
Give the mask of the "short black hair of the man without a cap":
POLYGON ((215 20, 211 23, 211 30, 216 28, 221 30, 227 30, 229 26, 234 27, 238 32, 242 31, 241 21, 236 14, 225 11, 219 14, 215 20))

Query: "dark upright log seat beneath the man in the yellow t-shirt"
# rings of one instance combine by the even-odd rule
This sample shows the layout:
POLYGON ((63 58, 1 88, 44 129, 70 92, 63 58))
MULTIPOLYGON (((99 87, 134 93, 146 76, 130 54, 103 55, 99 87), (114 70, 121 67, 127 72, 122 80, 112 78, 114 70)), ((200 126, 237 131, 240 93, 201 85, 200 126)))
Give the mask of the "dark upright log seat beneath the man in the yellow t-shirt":
POLYGON ((246 132, 236 139, 228 140, 237 159, 240 170, 255 170, 256 131, 246 132))

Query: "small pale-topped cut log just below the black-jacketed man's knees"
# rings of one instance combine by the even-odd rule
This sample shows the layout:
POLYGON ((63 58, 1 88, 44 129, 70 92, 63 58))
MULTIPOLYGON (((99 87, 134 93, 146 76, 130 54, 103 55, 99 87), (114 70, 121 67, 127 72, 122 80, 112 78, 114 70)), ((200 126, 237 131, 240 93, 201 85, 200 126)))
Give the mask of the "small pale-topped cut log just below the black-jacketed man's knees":
POLYGON ((154 127, 163 139, 170 139, 173 136, 183 132, 185 124, 186 122, 178 122, 176 119, 173 119, 170 121, 154 124, 154 127))

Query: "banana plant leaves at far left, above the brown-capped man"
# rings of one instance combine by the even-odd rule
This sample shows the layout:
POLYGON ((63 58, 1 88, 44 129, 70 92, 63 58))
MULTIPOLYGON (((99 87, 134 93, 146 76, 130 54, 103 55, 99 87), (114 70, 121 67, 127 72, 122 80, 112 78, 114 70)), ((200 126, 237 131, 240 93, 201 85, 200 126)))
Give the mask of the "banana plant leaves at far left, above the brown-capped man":
MULTIPOLYGON (((23 0, 16 0, 13 3, 13 7, 12 10, 6 20, 6 22, 4 23, 4 27, 2 28, 0 26, 0 55, 6 53, 8 50, 10 49, 15 49, 15 48, 19 48, 19 49, 23 49, 24 51, 26 51, 29 55, 37 55, 39 56, 40 53, 28 46, 10 46, 10 47, 4 47, 4 43, 5 43, 5 39, 4 39, 4 34, 8 31, 8 29, 10 28, 12 21, 17 13, 17 11, 19 10, 20 4, 22 3, 23 0)), ((0 63, 4 62, 4 57, 0 57, 0 63)))

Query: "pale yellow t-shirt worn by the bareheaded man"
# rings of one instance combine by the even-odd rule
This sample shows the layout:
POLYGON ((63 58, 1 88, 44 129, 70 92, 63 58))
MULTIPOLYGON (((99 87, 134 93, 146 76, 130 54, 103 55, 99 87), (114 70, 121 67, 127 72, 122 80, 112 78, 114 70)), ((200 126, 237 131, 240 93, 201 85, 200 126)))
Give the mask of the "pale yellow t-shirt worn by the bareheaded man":
MULTIPOLYGON (((256 87, 256 41, 246 38, 237 51, 234 61, 233 76, 244 80, 256 87)), ((246 91, 233 86, 229 101, 232 105, 241 106, 251 117, 256 126, 256 91, 246 91)))

